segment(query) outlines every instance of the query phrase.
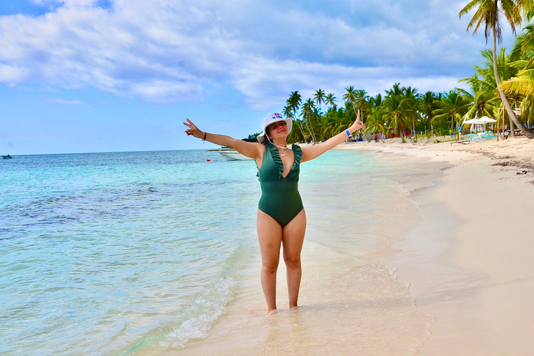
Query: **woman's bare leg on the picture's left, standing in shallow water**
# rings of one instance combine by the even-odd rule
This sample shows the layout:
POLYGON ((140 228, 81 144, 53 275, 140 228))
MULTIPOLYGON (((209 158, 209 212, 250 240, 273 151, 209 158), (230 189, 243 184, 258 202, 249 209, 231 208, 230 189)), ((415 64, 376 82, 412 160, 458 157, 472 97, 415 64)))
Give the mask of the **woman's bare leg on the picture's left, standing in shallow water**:
POLYGON ((258 209, 257 231, 261 251, 261 287, 264 289, 267 312, 270 313, 276 310, 276 271, 280 261, 282 227, 258 209))

